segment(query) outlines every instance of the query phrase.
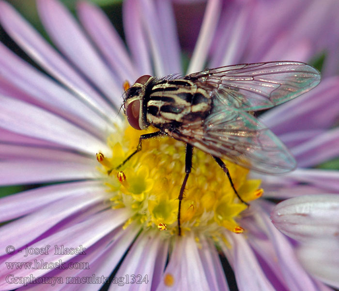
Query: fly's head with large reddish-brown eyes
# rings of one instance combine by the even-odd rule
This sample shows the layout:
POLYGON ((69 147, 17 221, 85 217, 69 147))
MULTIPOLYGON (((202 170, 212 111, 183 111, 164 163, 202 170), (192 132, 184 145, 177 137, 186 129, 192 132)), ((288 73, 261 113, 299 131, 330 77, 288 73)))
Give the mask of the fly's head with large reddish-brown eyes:
POLYGON ((125 91, 123 99, 124 112, 131 127, 142 130, 149 127, 146 120, 148 88, 153 86, 155 78, 143 75, 125 91))

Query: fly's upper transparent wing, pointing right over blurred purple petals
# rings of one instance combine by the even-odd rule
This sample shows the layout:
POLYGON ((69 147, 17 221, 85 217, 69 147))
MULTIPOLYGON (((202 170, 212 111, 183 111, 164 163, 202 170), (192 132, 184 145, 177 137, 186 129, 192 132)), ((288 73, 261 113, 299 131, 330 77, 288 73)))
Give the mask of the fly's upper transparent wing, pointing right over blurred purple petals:
POLYGON ((319 84, 320 73, 298 62, 229 65, 185 76, 228 107, 259 111, 291 100, 319 84))

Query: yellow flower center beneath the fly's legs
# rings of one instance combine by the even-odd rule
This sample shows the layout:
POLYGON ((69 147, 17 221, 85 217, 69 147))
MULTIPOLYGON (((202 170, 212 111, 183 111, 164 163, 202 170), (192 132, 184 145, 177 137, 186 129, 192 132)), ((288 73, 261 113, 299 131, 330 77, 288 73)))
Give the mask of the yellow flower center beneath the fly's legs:
MULTIPOLYGON (((185 177, 185 143, 167 136, 144 140, 142 150, 116 169, 135 151, 140 135, 149 132, 130 126, 117 129, 108 138, 111 157, 97 154, 102 164, 100 171, 108 186, 112 208, 131 210, 127 224, 138 221, 143 228, 158 229, 164 235, 177 234, 178 195, 185 177)), ((262 195, 260 180, 248 180, 247 169, 225 162, 243 200, 250 202, 262 195)), ((214 159, 195 148, 181 207, 183 235, 195 231, 215 237, 221 228, 241 233, 244 229, 236 219, 245 209, 247 206, 239 201, 214 159)))

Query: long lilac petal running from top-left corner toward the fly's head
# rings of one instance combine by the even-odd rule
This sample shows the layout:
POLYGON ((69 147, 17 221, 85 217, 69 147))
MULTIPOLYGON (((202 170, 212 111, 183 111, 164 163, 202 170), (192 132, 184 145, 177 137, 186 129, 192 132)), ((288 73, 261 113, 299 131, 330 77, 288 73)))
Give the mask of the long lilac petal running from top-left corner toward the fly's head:
POLYGON ((98 112, 114 115, 115 109, 5 1, 0 1, 0 21, 15 42, 48 73, 98 112))

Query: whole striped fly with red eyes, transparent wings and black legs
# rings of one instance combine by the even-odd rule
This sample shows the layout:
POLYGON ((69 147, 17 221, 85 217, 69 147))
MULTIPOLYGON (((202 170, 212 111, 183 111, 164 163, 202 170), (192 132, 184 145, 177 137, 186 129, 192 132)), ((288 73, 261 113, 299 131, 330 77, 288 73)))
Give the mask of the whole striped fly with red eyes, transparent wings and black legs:
POLYGON ((117 168, 141 150, 145 139, 168 135, 186 143, 185 178, 178 196, 181 235, 180 209, 193 148, 214 158, 234 193, 248 205, 221 158, 264 174, 292 171, 296 167, 293 156, 252 113, 300 96, 320 80, 317 69, 299 62, 223 66, 173 80, 143 75, 125 91, 123 109, 133 128, 152 125, 159 130, 142 134, 137 149, 117 168))

